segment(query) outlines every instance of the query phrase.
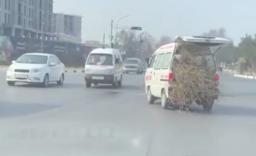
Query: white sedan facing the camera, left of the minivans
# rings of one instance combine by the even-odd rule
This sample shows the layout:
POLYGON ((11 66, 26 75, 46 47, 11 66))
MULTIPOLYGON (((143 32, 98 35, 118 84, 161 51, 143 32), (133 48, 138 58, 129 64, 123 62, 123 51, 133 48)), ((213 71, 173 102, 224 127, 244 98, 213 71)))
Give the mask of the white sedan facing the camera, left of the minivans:
POLYGON ((48 87, 49 82, 63 85, 65 65, 54 54, 28 53, 12 61, 7 74, 8 85, 16 82, 40 83, 48 87))

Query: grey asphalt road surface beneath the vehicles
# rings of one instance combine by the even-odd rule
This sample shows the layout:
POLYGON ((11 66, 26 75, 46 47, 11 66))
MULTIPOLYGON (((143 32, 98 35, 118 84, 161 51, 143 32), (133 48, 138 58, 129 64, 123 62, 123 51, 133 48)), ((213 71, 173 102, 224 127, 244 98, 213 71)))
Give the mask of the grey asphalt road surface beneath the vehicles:
POLYGON ((0 155, 255 155, 256 81, 220 74, 210 114, 147 104, 143 75, 122 89, 87 89, 67 73, 63 86, 8 87, 0 73, 0 155))

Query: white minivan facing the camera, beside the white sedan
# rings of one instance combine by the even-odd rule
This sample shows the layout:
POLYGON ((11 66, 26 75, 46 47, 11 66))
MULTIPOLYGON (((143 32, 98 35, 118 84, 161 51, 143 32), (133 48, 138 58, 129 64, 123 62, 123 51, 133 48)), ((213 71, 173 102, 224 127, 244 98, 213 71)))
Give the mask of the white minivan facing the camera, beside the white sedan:
POLYGON ((88 55, 84 65, 86 87, 100 83, 121 87, 122 68, 122 56, 118 49, 96 48, 88 55))

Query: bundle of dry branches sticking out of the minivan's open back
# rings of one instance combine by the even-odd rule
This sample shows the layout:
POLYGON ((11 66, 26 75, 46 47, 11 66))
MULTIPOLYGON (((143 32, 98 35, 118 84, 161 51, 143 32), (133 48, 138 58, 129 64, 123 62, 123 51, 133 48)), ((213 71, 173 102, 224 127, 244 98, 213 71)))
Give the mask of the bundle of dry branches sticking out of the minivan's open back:
POLYGON ((188 110, 192 102, 202 104, 215 88, 215 71, 207 67, 207 62, 199 60, 197 54, 180 49, 179 58, 173 65, 173 87, 170 92, 171 102, 180 109, 188 110))

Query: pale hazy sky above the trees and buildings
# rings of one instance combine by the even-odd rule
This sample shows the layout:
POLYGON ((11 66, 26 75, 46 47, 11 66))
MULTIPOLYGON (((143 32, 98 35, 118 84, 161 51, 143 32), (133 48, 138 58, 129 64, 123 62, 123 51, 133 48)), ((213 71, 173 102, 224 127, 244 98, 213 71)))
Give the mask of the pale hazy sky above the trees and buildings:
POLYGON ((141 26, 155 38, 225 28, 237 44, 246 33, 256 34, 255 5, 251 0, 54 0, 53 11, 81 15, 82 40, 103 40, 104 33, 110 36, 111 19, 116 25, 130 15, 119 26, 141 26))

